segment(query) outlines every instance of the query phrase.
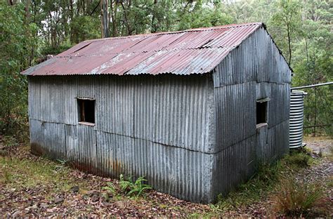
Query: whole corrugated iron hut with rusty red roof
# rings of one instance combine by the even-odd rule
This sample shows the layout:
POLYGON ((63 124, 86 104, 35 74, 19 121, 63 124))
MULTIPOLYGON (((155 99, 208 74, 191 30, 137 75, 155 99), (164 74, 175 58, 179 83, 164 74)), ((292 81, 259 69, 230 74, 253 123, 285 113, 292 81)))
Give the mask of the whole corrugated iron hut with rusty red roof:
POLYGON ((84 41, 23 74, 32 152, 181 199, 288 151, 291 69, 262 23, 84 41))

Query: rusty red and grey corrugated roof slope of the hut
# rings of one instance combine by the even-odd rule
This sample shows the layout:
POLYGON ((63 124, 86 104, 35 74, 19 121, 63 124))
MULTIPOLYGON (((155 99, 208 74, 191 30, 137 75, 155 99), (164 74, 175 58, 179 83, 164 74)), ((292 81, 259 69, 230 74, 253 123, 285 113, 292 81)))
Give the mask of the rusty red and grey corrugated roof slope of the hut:
POLYGON ((261 22, 83 41, 22 74, 204 74, 261 22))

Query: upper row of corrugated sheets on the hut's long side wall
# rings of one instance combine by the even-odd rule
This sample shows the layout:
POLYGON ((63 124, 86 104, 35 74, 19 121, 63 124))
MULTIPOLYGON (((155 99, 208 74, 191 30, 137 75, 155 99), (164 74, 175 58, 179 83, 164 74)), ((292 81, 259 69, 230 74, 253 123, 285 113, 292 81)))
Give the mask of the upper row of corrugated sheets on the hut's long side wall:
POLYGON ((30 77, 30 119, 77 125, 77 99, 96 98, 96 126, 188 150, 214 150, 207 76, 30 77))

